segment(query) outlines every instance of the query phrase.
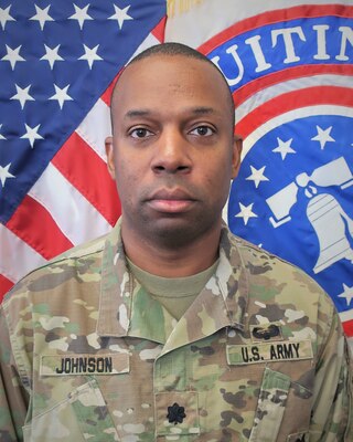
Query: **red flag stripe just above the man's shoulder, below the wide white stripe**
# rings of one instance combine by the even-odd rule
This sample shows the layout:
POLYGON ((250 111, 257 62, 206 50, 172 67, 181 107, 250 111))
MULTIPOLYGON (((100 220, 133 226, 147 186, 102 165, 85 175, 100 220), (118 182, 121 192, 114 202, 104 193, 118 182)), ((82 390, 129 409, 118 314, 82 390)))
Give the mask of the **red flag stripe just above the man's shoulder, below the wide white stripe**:
POLYGON ((6 227, 45 260, 51 260, 73 246, 50 212, 29 196, 24 197, 6 227))

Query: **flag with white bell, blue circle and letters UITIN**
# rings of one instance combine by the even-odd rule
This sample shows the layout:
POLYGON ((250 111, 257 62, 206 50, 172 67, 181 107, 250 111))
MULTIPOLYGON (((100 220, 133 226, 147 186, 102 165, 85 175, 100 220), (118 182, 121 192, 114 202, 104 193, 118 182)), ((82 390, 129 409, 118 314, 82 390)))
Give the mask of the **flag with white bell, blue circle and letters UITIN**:
POLYGON ((244 151, 231 229, 315 278, 353 345, 352 1, 173 2, 175 40, 233 92, 244 151))

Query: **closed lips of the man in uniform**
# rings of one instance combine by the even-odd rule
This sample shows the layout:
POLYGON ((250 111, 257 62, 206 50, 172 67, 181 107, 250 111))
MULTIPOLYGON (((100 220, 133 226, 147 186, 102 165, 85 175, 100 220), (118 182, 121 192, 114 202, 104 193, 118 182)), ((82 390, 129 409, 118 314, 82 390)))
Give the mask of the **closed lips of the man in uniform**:
POLYGON ((148 204, 158 212, 186 212, 195 203, 195 199, 181 189, 160 189, 148 198, 148 204))

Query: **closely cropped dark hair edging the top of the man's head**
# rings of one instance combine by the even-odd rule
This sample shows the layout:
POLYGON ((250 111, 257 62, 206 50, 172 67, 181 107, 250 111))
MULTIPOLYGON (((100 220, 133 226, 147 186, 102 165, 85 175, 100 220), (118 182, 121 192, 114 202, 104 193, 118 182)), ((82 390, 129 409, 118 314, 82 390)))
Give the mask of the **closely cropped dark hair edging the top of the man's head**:
MULTIPOLYGON (((211 65, 214 70, 216 70, 217 73, 221 75, 222 81, 224 82, 224 84, 228 91, 228 102, 229 102, 228 104, 229 104, 229 108, 232 110, 233 126, 235 125, 235 106, 234 106, 232 92, 229 90, 229 85, 226 82, 226 80, 225 80, 223 73, 220 71, 220 69, 214 63, 212 63, 212 61, 210 59, 207 59, 206 55, 202 54, 201 52, 199 52, 190 46, 186 46, 185 44, 175 43, 175 42, 167 42, 167 43, 157 44, 154 46, 150 46, 150 48, 146 49, 145 51, 140 52, 138 55, 136 55, 132 60, 129 61, 129 63, 126 65, 125 69, 127 69, 128 66, 130 66, 133 63, 137 63, 145 59, 149 59, 154 55, 169 55, 169 56, 182 55, 185 57, 195 59, 195 60, 205 62, 208 65, 211 65)), ((113 98, 115 95, 115 91, 117 90, 118 83, 119 83, 119 78, 117 80, 117 83, 115 84, 114 90, 113 90, 111 104, 113 104, 113 98)), ((113 115, 111 115, 111 125, 113 125, 113 115)))

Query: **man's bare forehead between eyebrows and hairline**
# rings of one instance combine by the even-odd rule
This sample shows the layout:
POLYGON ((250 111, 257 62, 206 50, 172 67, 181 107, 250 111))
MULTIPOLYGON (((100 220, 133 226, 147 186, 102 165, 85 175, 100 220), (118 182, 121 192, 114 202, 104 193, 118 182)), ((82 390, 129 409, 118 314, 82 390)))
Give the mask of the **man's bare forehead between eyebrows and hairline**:
POLYGON ((173 96, 185 99, 185 103, 193 102, 191 105, 195 107, 212 107, 223 117, 228 114, 234 125, 233 97, 218 69, 207 60, 164 53, 132 61, 121 73, 111 96, 113 125, 117 109, 119 118, 127 110, 140 112, 145 110, 143 107, 150 109, 151 105, 158 112, 161 102, 154 98, 160 97, 165 90, 171 94, 171 105, 173 96))

